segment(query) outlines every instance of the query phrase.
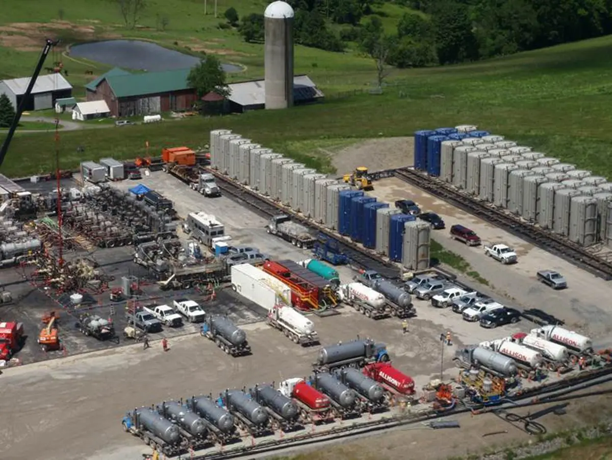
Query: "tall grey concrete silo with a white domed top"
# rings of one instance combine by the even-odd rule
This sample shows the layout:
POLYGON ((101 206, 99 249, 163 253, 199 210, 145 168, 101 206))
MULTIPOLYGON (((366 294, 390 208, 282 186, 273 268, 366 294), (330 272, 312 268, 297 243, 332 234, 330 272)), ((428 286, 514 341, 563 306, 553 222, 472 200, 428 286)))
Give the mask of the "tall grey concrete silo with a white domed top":
POLYGON ((293 105, 293 8, 276 1, 264 12, 266 108, 293 105))

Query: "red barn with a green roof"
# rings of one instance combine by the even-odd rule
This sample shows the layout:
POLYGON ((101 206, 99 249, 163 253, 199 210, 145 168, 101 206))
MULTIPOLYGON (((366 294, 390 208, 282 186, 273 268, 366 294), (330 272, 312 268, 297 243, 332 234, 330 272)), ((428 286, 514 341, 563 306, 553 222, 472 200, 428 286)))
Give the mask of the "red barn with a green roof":
POLYGON ((191 110, 198 99, 189 88, 190 69, 129 74, 113 69, 85 86, 87 100, 104 100, 113 116, 191 110))

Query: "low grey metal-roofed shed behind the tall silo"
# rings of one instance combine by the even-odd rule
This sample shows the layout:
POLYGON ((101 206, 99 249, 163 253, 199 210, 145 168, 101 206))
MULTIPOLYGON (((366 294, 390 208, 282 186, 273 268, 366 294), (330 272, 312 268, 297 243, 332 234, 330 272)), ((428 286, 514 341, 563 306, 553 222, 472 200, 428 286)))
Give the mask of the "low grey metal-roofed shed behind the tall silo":
MULTIPOLYGON (((232 111, 243 112, 266 107, 266 82, 264 80, 241 81, 231 83, 230 100, 232 111)), ((308 75, 296 75, 293 78, 293 103, 308 104, 323 99, 324 94, 318 89, 308 75)))

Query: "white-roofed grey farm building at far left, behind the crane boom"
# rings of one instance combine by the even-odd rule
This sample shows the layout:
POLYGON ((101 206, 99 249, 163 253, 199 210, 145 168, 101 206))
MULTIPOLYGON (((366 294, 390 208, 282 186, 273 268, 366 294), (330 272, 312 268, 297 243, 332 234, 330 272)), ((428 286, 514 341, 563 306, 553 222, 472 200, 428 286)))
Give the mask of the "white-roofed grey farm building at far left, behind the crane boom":
MULTIPOLYGON (((13 78, 0 81, 0 94, 6 94, 11 104, 17 110, 30 77, 13 78)), ((56 74, 39 75, 32 88, 32 94, 26 102, 24 110, 43 110, 53 108, 56 99, 72 97, 72 85, 59 72, 56 74)))

